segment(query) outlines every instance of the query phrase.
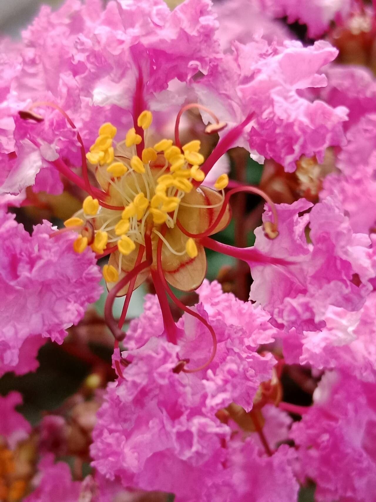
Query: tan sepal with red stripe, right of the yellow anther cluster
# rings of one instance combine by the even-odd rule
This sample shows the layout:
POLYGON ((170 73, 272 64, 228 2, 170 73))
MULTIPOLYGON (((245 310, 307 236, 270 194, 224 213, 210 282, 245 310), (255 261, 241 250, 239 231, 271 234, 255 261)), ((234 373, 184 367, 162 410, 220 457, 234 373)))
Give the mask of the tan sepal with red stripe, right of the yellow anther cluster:
MULTIPOLYGON (((205 232, 210 225, 215 221, 222 207, 222 194, 212 190, 211 188, 201 186, 197 190, 187 193, 182 202, 190 204, 190 206, 179 206, 178 219, 182 226, 191 233, 205 232), (217 205, 219 204, 219 205, 217 205), (216 206, 217 207, 193 207, 199 206, 216 206)), ((231 219, 230 206, 228 205, 221 221, 218 223, 212 233, 223 230, 231 219)))

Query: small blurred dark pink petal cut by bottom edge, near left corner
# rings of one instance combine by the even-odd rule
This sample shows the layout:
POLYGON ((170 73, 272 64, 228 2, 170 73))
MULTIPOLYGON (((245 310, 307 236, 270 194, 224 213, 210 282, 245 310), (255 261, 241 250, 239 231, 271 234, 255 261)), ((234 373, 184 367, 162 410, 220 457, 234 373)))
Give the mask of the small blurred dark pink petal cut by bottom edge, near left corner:
POLYGON ((32 481, 36 488, 24 499, 25 502, 78 502, 81 483, 72 481, 70 468, 65 462, 54 463, 53 455, 46 455, 38 467, 39 472, 32 481))

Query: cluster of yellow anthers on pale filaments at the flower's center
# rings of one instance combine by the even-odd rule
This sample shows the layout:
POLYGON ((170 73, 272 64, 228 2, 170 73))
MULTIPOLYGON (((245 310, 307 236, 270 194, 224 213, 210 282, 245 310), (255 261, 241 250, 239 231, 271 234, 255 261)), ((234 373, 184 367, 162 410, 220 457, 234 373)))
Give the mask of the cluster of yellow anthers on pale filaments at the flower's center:
MULTIPOLYGON (((66 226, 82 228, 75 242, 77 252, 91 245, 96 253, 102 254, 112 244, 113 248, 117 246, 120 255, 127 256, 136 244, 145 244, 145 229, 152 227, 152 233, 164 241, 172 254, 197 256, 195 239, 187 239, 185 249, 177 251, 161 234, 160 226, 165 224, 173 228, 179 209, 186 211, 190 207, 201 207, 186 197, 205 179, 205 173, 200 169, 205 160, 200 153, 201 143, 193 140, 180 148, 172 140, 162 139, 152 144, 147 134, 151 122, 152 114, 148 110, 138 117, 137 125, 145 136, 145 148, 140 155, 137 146, 142 138, 134 128, 119 143, 114 142, 117 130, 112 124, 107 122, 99 129, 99 136, 86 157, 107 194, 106 205, 110 208, 102 207, 89 195, 82 209, 65 222, 66 226)), ((227 175, 218 178, 215 187, 222 191, 222 197, 213 207, 223 204, 223 190, 227 184, 227 175)), ((121 260, 119 271, 120 268, 121 260)), ((112 269, 107 272, 109 277, 111 275, 111 282, 116 280, 112 269)))

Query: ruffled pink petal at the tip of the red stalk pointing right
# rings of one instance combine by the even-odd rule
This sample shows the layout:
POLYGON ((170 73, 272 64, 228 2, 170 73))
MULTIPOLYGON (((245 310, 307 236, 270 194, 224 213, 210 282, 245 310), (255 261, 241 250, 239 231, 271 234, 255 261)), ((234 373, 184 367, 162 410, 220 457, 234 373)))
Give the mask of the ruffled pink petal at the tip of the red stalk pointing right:
MULTIPOLYGON (((373 252, 367 234, 353 233, 335 198, 327 197, 309 214, 304 199, 278 206, 279 237, 268 240, 256 230, 256 248, 295 262, 289 267, 254 267, 251 298, 257 300, 287 328, 316 331, 325 326, 329 306, 359 310, 375 275, 373 252), (309 237, 305 235, 309 223, 309 237), (357 286, 353 276, 357 274, 357 286)), ((265 213, 264 217, 268 217, 265 213)))

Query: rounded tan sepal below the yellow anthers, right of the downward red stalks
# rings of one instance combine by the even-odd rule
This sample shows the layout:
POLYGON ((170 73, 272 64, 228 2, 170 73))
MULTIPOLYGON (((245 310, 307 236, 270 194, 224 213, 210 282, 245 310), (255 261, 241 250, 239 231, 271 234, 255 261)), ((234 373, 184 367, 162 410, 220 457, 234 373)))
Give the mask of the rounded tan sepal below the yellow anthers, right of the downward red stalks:
MULTIPOLYGON (((177 227, 168 229, 165 239, 176 252, 185 250, 188 237, 177 227)), ((190 258, 186 253, 176 256, 170 252, 165 244, 162 246, 162 269, 166 281, 180 291, 193 291, 205 279, 207 261, 204 247, 196 241, 198 255, 190 258)), ((155 261, 154 261, 155 263, 155 261)))

